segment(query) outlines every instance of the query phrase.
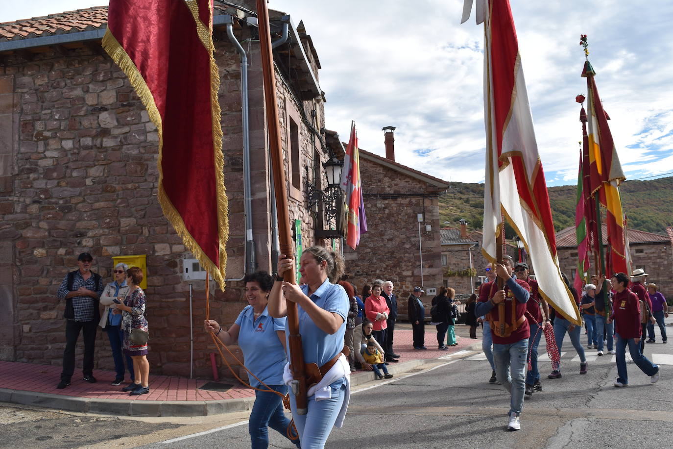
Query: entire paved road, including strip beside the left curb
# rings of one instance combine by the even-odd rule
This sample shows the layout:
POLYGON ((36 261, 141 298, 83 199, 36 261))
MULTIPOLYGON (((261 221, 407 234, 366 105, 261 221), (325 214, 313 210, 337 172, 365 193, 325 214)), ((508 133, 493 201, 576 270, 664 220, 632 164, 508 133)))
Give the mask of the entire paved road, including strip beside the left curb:
MULTIPOLYGON (((544 391, 524 405, 521 431, 505 431, 509 399, 500 386, 488 383, 487 361, 479 353, 462 353, 437 361, 432 370, 358 386, 344 427, 334 429, 326 447, 673 447, 664 434, 673 421, 673 345, 647 345, 648 357, 654 353, 655 360, 668 364, 661 365, 658 384, 649 384, 649 377, 629 364, 631 383, 619 389, 612 386, 614 356, 587 353, 586 376, 579 375, 574 351, 563 355, 563 378, 543 379, 544 391)), ((548 374, 551 364, 542 361, 541 368, 548 374)), ((0 406, 0 447, 249 448, 246 419, 246 413, 95 417, 7 405, 0 406)), ((292 447, 271 432, 271 447, 292 447)))

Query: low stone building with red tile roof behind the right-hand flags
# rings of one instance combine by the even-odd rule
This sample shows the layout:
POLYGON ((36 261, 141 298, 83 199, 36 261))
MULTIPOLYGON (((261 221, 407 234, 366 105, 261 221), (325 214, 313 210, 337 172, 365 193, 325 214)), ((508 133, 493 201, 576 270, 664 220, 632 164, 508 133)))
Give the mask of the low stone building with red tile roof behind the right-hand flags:
MULTIPOLYGON (((669 229, 667 228, 667 232, 669 229)), ((654 234, 652 232, 629 229, 629 246, 631 248, 631 263, 633 269, 642 268, 649 276, 647 281, 656 283, 662 294, 668 299, 673 297, 673 231, 669 235, 654 234)), ((608 230, 603 225, 603 246, 607 248, 608 230)), ((575 228, 569 227, 556 234, 559 265, 572 281, 577 275, 577 240, 575 228)), ((593 261, 591 261, 593 264, 593 261)), ((595 273, 591 269, 592 274, 595 273)))

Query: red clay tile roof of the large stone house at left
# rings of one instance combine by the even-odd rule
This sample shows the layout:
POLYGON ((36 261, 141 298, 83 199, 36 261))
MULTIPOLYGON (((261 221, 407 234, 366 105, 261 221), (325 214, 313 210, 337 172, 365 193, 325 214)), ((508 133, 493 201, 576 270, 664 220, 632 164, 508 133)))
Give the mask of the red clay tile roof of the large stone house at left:
POLYGON ((107 6, 65 11, 16 22, 0 23, 0 42, 98 30, 105 28, 107 24, 107 6))

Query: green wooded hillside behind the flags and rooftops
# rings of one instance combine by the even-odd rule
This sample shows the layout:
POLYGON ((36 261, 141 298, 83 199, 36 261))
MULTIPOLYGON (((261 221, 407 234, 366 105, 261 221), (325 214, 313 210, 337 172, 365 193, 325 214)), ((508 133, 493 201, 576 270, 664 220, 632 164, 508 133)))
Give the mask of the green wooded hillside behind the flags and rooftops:
MULTIPOLYGON (((673 226, 673 176, 627 181, 621 185, 620 193, 629 228, 665 234, 666 226, 673 226)), ((575 195, 576 186, 549 188, 557 232, 575 224, 575 195)), ((464 218, 470 222, 469 228, 481 230, 483 199, 484 184, 452 182, 449 190, 439 197, 439 222, 457 228, 458 220, 464 218)), ((507 238, 513 237, 510 229, 505 234, 507 238)))

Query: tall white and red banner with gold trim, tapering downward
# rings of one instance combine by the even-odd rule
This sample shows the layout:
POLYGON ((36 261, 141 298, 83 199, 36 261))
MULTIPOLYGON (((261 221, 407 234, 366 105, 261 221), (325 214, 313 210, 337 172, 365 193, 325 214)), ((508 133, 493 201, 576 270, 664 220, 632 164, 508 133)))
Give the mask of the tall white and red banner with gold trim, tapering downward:
MULTIPOLYGON (((476 0, 476 22, 485 22, 484 111, 486 176, 482 251, 496 259, 502 217, 526 246, 540 292, 579 323, 579 311, 561 278, 554 223, 538 155, 514 20, 507 0, 476 0)), ((465 1, 463 21, 472 0, 465 1)))

